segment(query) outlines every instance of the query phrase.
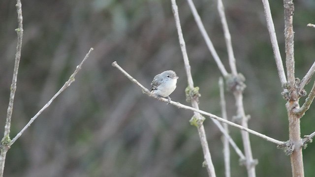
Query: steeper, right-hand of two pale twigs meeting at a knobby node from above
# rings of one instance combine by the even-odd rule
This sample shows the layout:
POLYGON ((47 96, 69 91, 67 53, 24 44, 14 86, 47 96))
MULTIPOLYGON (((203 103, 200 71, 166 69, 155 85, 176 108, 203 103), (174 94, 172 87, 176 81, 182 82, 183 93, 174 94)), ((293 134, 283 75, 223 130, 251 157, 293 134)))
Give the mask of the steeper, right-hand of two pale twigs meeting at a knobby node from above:
POLYGON ((225 17, 225 13, 224 13, 224 6, 222 3, 222 0, 218 0, 218 11, 219 11, 223 31, 224 31, 225 43, 226 43, 228 60, 230 63, 231 72, 234 76, 236 76, 237 75, 237 69, 236 69, 235 57, 234 57, 234 52, 233 52, 233 47, 232 47, 232 42, 231 42, 231 34, 230 34, 230 31, 228 29, 228 25, 226 22, 226 17, 225 17))

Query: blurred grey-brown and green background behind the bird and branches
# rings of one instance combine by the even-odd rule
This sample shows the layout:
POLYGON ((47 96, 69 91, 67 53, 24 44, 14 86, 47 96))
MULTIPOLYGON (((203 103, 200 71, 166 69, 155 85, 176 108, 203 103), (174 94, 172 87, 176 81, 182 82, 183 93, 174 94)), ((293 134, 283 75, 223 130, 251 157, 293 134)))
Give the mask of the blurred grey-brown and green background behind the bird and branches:
MULTIPOLYGON (((215 0, 194 0, 196 8, 229 70, 215 0)), ((4 131, 14 57, 15 0, 0 1, 0 132, 4 131)), ((260 0, 223 0, 249 127, 275 139, 288 139, 285 101, 273 58, 260 0)), ((283 59, 282 1, 270 1, 283 59)), ((187 1, 178 0, 200 109, 221 116, 221 73, 194 22, 187 1)), ((190 111, 179 110, 142 94, 111 66, 117 61, 149 88, 153 77, 168 69, 180 77, 171 94, 185 101, 187 77, 170 0, 22 0, 24 38, 12 116, 13 138, 61 88, 91 47, 95 50, 66 89, 11 147, 4 177, 207 177, 197 130, 190 111)), ((315 1, 295 2, 296 77, 303 78, 315 61, 315 1)), ((309 92, 314 79, 307 87, 309 92)), ((235 100, 226 92, 229 119, 235 100)), ((301 99, 303 103, 305 98, 301 99)), ((301 120, 302 136, 315 131, 315 106, 301 120)), ((224 175, 221 133, 204 122, 218 177, 224 175)), ((230 128, 243 149, 240 131, 230 128)), ((2 136, 1 136, 2 138, 2 136)), ((291 176, 290 160, 276 145, 251 135, 258 177, 291 176)), ((305 175, 314 176, 315 145, 304 150, 305 175)), ((245 177, 231 149, 233 177, 245 177)))

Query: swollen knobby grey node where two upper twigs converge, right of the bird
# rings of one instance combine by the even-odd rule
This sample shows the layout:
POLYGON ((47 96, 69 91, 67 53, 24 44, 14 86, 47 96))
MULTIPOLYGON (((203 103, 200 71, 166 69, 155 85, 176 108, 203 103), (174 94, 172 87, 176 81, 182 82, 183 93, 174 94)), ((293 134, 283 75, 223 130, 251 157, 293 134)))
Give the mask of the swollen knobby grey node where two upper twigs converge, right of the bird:
POLYGON ((234 91, 240 91, 243 92, 243 90, 246 88, 245 77, 242 73, 238 73, 238 75, 227 75, 225 77, 226 79, 226 88, 232 92, 234 91))

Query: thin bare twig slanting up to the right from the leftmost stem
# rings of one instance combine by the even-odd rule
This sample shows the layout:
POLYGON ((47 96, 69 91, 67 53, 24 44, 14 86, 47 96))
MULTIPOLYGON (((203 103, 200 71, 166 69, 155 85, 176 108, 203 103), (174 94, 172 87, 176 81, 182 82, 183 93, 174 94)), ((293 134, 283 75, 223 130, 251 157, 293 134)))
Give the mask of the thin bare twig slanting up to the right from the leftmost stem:
POLYGON ((63 87, 61 89, 59 89, 59 91, 45 104, 45 106, 43 106, 38 113, 36 113, 36 115, 34 117, 31 118, 31 120, 25 125, 25 127, 12 139, 10 146, 25 132, 26 129, 28 129, 30 127, 30 125, 32 124, 32 122, 38 118, 38 116, 45 110, 47 109, 50 104, 55 100, 55 98, 57 98, 58 95, 60 95, 60 93, 62 93, 66 88, 68 88, 74 81, 75 81, 75 75, 81 70, 82 64, 84 63, 84 61, 86 59, 89 58, 91 52, 94 49, 91 48, 90 51, 86 54, 86 56, 84 57, 84 59, 81 61, 81 63, 79 65, 77 65, 75 71, 73 72, 73 74, 71 74, 71 76, 69 77, 69 80, 66 81, 63 85, 63 87))

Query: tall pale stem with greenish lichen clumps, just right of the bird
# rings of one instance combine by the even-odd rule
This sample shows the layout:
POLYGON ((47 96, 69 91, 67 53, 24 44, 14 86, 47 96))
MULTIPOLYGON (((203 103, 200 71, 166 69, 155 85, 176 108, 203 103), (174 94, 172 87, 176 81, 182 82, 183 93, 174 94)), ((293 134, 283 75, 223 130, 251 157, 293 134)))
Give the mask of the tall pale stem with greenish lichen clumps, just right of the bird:
MULTIPOLYGON (((183 32, 182 32, 182 28, 181 28, 181 24, 180 24, 176 0, 172 0, 172 11, 174 14, 176 29, 178 32, 178 38, 179 38, 179 42, 180 42, 180 46, 181 46, 181 50, 182 50, 182 54, 183 54, 183 59, 184 59, 184 63, 185 63, 185 69, 186 69, 186 74, 187 74, 187 78, 188 78, 188 88, 189 88, 189 90, 194 90, 193 81, 192 81, 191 72, 190 72, 189 59, 188 59, 187 51, 186 51, 186 44, 185 44, 185 40, 183 37, 183 32)), ((193 99, 191 99, 191 105, 192 105, 192 107, 199 109, 198 96, 193 96, 193 99)), ((204 154, 204 159, 205 159, 204 165, 207 168, 209 177, 216 177, 215 168, 214 168, 212 160, 211 160, 211 154, 209 151, 206 133, 205 133, 203 123, 202 123, 204 118, 199 113, 196 113, 196 112, 194 112, 194 117, 197 119, 197 122, 198 122, 198 125, 196 127, 198 129, 201 147, 202 147, 203 154, 204 154)))

